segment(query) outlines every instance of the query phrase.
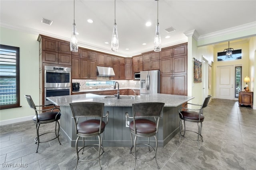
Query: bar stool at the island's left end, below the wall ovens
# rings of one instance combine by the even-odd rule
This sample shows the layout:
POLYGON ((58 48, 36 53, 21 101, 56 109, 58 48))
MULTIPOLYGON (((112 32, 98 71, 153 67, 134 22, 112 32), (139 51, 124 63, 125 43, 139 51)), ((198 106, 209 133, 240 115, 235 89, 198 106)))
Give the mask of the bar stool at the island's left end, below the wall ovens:
MULTIPOLYGON (((60 139, 59 139, 59 136, 60 136, 60 123, 59 123, 59 119, 60 119, 60 109, 58 107, 56 107, 54 104, 48 104, 48 105, 42 105, 42 106, 35 106, 32 98, 30 95, 25 95, 25 98, 28 102, 28 105, 31 109, 34 109, 35 111, 35 116, 33 117, 33 121, 34 123, 36 124, 36 135, 37 137, 35 138, 35 142, 37 144, 37 149, 36 149, 36 153, 38 152, 38 147, 39 147, 39 143, 45 143, 45 142, 49 142, 49 141, 52 141, 54 139, 57 139, 58 138, 58 141, 60 143, 60 139), (37 109, 36 107, 50 107, 49 109, 37 109), (38 112, 42 112, 42 113, 38 113, 38 112), (52 131, 52 132, 46 132, 46 133, 43 133, 43 134, 40 134, 39 135, 39 127, 41 124, 46 124, 46 123, 52 123, 52 122, 55 122, 55 131, 52 131), (57 131, 57 124, 58 124, 58 131, 57 131), (40 136, 42 135, 46 135, 48 133, 55 133, 55 136, 54 138, 51 138, 51 139, 48 139, 46 141, 40 141, 40 136)), ((60 143, 61 145, 61 143, 60 143)))

